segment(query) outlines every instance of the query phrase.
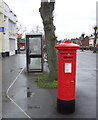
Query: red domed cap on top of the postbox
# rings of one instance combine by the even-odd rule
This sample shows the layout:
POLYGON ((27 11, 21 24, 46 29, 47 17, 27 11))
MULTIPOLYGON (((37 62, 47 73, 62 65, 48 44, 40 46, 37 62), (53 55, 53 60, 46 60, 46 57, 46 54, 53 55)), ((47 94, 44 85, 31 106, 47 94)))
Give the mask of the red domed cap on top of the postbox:
POLYGON ((76 49, 80 49, 80 46, 77 45, 77 44, 71 43, 69 40, 66 40, 64 43, 55 45, 55 48, 58 49, 58 50, 62 50, 62 49, 63 50, 64 49, 73 49, 73 50, 76 50, 76 49))

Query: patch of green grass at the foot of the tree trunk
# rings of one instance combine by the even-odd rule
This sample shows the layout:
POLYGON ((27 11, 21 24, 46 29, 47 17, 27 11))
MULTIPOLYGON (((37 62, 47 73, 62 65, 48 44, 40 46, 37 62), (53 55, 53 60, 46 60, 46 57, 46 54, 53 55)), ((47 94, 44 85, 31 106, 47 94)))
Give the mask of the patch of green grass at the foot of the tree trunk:
POLYGON ((57 80, 48 81, 47 74, 38 76, 36 82, 39 88, 57 88, 57 80))

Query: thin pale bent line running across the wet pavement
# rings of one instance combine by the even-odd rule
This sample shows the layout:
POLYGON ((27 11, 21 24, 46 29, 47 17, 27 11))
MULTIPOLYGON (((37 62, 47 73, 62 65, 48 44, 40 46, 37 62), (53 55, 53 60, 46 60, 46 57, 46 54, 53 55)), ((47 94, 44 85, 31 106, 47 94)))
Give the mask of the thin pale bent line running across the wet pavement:
POLYGON ((32 118, 8 95, 10 88, 11 88, 11 87, 13 86, 13 84, 16 82, 16 80, 18 79, 18 77, 20 76, 20 74, 23 72, 24 69, 25 69, 25 68, 23 68, 23 69, 20 71, 20 73, 18 74, 18 76, 17 76, 17 77, 14 79, 14 81, 11 83, 11 85, 10 85, 9 88, 7 89, 6 94, 7 94, 7 97, 8 97, 29 119, 32 120, 32 118))

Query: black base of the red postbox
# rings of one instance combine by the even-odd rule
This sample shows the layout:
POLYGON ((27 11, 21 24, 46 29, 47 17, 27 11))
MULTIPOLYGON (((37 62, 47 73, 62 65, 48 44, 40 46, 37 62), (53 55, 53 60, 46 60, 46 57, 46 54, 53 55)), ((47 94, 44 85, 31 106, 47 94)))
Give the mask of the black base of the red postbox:
POLYGON ((57 99, 57 112, 71 114, 75 112, 75 100, 66 101, 57 99))

